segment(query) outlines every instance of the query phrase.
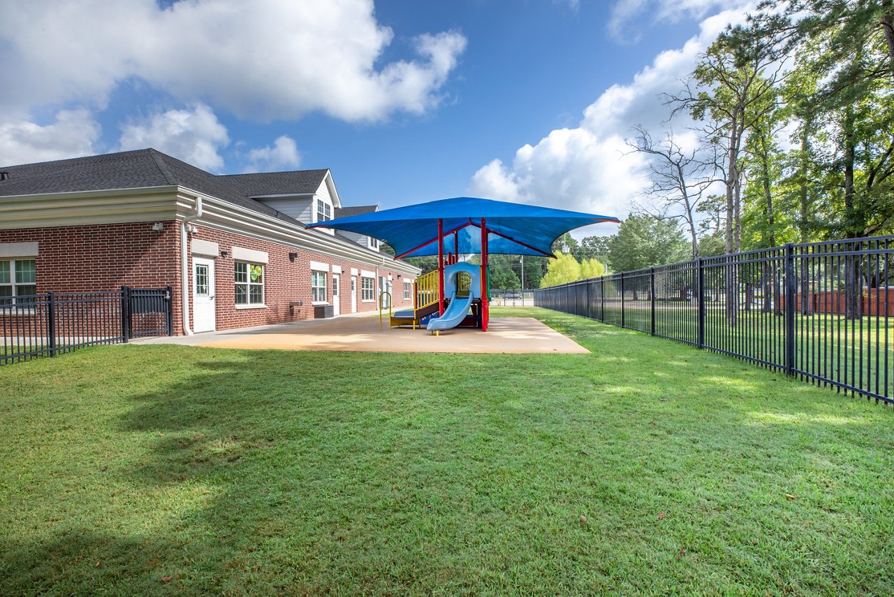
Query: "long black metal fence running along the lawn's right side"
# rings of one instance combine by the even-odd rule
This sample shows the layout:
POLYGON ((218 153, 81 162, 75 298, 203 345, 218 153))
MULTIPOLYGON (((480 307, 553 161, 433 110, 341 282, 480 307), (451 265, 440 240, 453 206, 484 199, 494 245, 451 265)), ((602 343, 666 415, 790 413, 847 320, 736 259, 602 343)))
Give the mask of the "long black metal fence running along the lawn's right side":
POLYGON ((894 236, 708 257, 535 291, 537 306, 894 405, 894 236))

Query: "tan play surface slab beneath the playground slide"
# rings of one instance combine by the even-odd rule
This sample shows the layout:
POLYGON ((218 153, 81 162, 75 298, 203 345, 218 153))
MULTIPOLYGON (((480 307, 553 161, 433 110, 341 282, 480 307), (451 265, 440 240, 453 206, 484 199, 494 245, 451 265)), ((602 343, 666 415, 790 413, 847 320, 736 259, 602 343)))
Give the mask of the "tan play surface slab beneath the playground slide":
POLYGON ((378 317, 326 320, 309 326, 271 326, 192 337, 214 348, 277 348, 397 353, 588 353, 569 337, 534 318, 493 318, 486 332, 456 328, 433 336, 425 329, 379 329, 378 317))

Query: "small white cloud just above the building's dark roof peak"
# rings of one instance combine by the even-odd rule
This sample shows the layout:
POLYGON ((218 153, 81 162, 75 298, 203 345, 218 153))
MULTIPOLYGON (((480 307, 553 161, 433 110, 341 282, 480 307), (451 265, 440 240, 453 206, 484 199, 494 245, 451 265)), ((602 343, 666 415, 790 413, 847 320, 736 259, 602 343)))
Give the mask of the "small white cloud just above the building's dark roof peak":
POLYGON ((205 170, 221 170, 219 149, 230 143, 226 127, 205 104, 156 112, 122 125, 121 149, 158 149, 205 170))

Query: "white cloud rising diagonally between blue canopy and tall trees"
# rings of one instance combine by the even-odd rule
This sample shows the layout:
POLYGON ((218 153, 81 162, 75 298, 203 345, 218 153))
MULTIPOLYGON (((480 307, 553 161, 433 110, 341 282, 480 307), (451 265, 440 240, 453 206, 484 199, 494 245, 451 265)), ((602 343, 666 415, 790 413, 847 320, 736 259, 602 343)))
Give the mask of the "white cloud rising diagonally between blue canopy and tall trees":
MULTIPOLYGON (((640 193, 649 185, 641 154, 631 153, 625 140, 641 124, 661 138, 669 114, 660 94, 675 90, 691 72, 697 56, 730 21, 744 14, 727 11, 702 21, 698 36, 674 50, 657 55, 627 85, 616 84, 586 107, 578 128, 550 132, 536 145, 518 149, 511 164, 494 159, 472 176, 471 195, 536 203, 602 215, 626 217, 640 193)), ((680 141, 694 143, 685 123, 680 141)), ((586 234, 611 233, 596 226, 586 234)))

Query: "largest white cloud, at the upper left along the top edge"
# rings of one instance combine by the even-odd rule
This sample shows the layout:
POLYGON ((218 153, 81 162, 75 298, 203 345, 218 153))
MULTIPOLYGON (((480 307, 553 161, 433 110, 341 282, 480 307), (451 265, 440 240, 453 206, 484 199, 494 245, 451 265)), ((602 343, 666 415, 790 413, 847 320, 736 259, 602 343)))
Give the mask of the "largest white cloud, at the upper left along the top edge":
POLYGON ((438 103, 466 38, 422 35, 411 40, 415 59, 380 64, 393 33, 374 8, 372 0, 10 4, 0 21, 0 107, 104 107, 116 85, 136 77, 257 120, 424 112, 438 103))

